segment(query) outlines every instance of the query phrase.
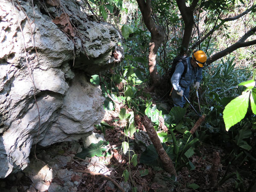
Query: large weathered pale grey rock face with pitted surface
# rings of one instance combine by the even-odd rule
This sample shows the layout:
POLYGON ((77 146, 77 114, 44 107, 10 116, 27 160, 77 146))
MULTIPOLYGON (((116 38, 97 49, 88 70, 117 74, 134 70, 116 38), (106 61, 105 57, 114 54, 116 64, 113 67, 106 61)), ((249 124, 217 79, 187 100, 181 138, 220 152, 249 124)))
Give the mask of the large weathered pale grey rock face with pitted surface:
POLYGON ((104 116, 104 98, 86 74, 123 57, 112 54, 119 32, 88 20, 76 0, 47 7, 33 2, 0 0, 0 178, 27 166, 33 144, 76 140, 92 131, 104 116), (49 17, 57 13, 69 22, 57 26, 49 17))

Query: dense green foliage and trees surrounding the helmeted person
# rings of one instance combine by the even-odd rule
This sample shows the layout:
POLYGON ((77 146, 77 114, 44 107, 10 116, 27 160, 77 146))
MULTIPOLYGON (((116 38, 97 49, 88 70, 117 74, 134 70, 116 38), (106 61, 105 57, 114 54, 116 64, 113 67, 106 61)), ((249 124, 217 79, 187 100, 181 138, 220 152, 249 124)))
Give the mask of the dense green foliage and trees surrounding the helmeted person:
MULTIPOLYGON (((195 169, 193 155, 200 156, 198 148, 209 144, 216 147, 216 151, 218 147, 224 149, 221 162, 217 162, 216 156, 212 157, 218 167, 220 164, 225 166, 224 175, 215 180, 212 177, 211 187, 216 189, 213 191, 217 191, 216 187, 230 178, 235 183, 233 190, 255 191, 256 4, 253 0, 177 2, 84 1, 86 5, 90 4, 88 13, 93 13, 98 20, 112 23, 124 38, 120 42, 125 51, 124 61, 105 73, 93 75, 91 82, 101 85, 106 98, 105 109, 116 110, 119 112, 119 119, 127 120, 122 143, 124 153, 130 151, 129 138, 138 132, 136 118, 147 115, 177 172, 183 167, 195 169), (183 11, 186 12, 189 8, 192 9, 191 15, 184 14, 183 11), (150 18, 145 17, 147 13, 150 18), (190 16, 192 23, 186 18, 190 16), (153 25, 150 22, 154 22, 153 25), (188 32, 190 24, 191 32, 188 32), (158 35, 152 32, 153 28, 148 29, 150 26, 158 35), (159 43, 156 37, 160 36, 163 38, 159 48, 151 49, 152 44, 159 43), (241 47, 232 48, 240 43, 241 47), (209 60, 203 69, 204 77, 199 89, 200 107, 206 119, 200 130, 192 135, 189 130, 199 117, 189 105, 184 108, 173 107, 169 96, 168 70, 175 56, 184 53, 190 55, 195 49, 204 50, 209 60), (156 55, 154 72, 149 61, 152 50, 156 55), (216 55, 220 56, 214 59, 216 55), (152 73, 157 76, 152 76, 152 73), (160 81, 160 84, 152 88, 154 81, 160 81), (164 119, 168 131, 164 131, 160 125, 163 121, 160 119, 164 119)), ((199 111, 194 89, 190 92, 189 100, 199 111)), ((96 127, 104 133, 111 128, 104 122, 96 127)), ((214 154, 215 151, 211 152, 214 154)), ((162 166, 152 145, 141 154, 140 163, 153 167, 162 166)), ((137 154, 134 151, 130 165, 137 166, 137 154)), ((123 172, 125 181, 132 180, 129 177, 130 169, 128 167, 123 172)), ((199 190, 195 183, 189 187, 199 190)), ((136 190, 137 187, 134 186, 133 191, 136 190)))

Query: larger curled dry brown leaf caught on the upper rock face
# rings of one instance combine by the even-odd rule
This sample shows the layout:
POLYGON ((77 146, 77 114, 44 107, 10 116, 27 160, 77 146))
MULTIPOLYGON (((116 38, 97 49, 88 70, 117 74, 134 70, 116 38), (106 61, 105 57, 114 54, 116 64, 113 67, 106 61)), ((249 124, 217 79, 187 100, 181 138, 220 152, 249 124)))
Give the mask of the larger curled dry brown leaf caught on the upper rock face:
POLYGON ((60 17, 55 17, 52 22, 61 27, 68 35, 75 37, 75 31, 70 23, 70 17, 66 13, 62 13, 60 17))

